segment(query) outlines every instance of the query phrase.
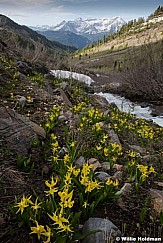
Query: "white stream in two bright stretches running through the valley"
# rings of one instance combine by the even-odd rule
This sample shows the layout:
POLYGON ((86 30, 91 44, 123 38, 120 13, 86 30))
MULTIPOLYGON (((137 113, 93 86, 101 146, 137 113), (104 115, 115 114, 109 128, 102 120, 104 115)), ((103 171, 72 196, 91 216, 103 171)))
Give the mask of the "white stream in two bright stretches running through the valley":
MULTIPOLYGON (((70 72, 70 71, 51 70, 51 74, 57 78, 68 78, 68 79, 73 78, 85 82, 88 85, 91 85, 91 83, 94 82, 94 80, 87 75, 70 72)), ((102 92, 96 94, 106 98, 108 103, 114 103, 123 112, 133 114, 137 118, 153 121, 154 123, 163 127, 163 115, 153 116, 152 110, 149 106, 142 107, 140 104, 136 102, 131 102, 130 100, 115 94, 102 93, 102 92)))

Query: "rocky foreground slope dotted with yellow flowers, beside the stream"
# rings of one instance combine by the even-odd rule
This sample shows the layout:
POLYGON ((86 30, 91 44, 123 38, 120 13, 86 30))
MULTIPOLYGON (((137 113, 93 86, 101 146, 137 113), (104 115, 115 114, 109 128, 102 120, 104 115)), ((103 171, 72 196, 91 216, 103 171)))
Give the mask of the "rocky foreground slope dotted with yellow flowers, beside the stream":
MULTIPOLYGON (((101 232, 76 239, 163 237, 163 129, 121 113, 83 83, 55 79, 4 43, 0 70, 0 242, 39 242, 38 232, 29 234, 36 220, 47 232, 47 225, 52 229, 51 242, 74 242, 76 232, 97 229, 101 232), (68 179, 71 165, 76 174, 68 179), (98 185, 92 189, 81 184, 86 166, 90 186, 98 185), (56 208, 64 186, 73 191, 73 206, 63 214, 73 233, 58 231, 65 222, 54 230, 47 216, 55 212, 44 193, 50 183, 54 189, 52 176, 56 208), (23 195, 32 196, 38 214, 29 211, 30 199, 21 211, 23 195)), ((41 241, 47 232, 40 233, 41 241)))

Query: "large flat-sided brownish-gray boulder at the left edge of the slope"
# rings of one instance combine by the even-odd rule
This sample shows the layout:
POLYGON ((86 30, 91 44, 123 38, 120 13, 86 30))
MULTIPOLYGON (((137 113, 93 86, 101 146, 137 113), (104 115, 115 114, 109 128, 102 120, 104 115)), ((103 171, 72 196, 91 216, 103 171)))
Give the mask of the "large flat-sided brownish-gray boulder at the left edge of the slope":
POLYGON ((17 112, 0 107, 0 139, 15 153, 26 156, 31 141, 39 137, 45 138, 45 130, 17 112))

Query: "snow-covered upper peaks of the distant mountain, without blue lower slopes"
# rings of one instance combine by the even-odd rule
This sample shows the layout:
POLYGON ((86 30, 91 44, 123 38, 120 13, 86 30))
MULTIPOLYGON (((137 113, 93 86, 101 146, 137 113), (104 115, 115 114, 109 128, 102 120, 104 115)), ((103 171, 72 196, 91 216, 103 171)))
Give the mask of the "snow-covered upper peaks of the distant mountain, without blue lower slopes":
POLYGON ((62 21, 60 24, 56 26, 36 26, 31 27, 36 31, 45 31, 45 30, 53 30, 53 31, 70 31, 75 34, 98 34, 98 33, 108 33, 115 32, 119 30, 122 25, 126 22, 121 17, 114 18, 102 18, 102 19, 86 19, 77 18, 74 21, 62 21))

